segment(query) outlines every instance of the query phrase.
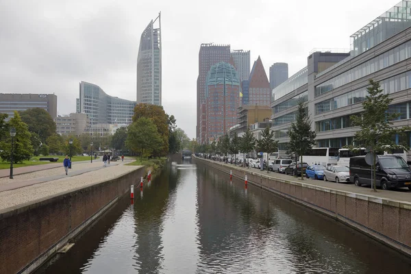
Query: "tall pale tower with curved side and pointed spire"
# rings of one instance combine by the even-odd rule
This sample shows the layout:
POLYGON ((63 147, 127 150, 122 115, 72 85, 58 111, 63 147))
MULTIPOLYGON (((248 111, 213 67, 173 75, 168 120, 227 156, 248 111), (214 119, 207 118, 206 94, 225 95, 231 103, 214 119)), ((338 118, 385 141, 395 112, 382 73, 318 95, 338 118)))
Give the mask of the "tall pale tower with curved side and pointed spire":
POLYGON ((141 34, 137 57, 137 103, 161 105, 161 13, 141 34), (154 23, 158 20, 158 27, 154 23))

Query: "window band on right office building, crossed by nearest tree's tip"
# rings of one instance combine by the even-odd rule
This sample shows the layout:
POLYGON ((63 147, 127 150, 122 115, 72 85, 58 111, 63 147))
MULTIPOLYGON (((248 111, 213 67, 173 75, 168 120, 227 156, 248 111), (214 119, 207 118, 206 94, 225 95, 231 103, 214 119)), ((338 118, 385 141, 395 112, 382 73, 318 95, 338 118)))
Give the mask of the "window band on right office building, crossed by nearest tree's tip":
MULTIPOLYGON (((384 90, 384 94, 395 93, 411 88, 411 71, 407 71, 406 73, 401 73, 388 79, 384 79, 379 82, 379 84, 382 90, 384 90)), ((368 95, 368 92, 366 90, 366 87, 364 87, 359 88, 358 90, 347 92, 332 99, 316 103, 315 114, 321 114, 329 110, 336 110, 337 108, 344 108, 347 105, 360 103, 366 99, 366 95, 368 95)))

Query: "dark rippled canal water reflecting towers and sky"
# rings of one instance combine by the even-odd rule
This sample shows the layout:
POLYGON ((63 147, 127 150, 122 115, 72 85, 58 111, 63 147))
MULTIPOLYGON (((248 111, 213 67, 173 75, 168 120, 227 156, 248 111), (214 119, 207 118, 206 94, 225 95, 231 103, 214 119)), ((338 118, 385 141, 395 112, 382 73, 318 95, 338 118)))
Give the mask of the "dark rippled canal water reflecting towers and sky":
POLYGON ((133 205, 125 195, 37 273, 411 273, 347 225, 194 161, 166 167, 133 205))

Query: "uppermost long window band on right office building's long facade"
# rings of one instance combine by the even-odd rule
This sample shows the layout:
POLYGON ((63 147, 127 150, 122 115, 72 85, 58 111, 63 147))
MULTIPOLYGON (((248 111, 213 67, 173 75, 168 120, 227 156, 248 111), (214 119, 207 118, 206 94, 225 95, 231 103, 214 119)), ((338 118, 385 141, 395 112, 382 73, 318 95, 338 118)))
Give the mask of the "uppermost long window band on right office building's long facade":
POLYGON ((338 88, 345 84, 355 81, 356 79, 360 79, 361 77, 365 77, 366 75, 370 75, 371 73, 375 73, 375 71, 379 71, 385 69, 388 66, 392 66, 393 64, 397 64, 403 60, 406 60, 411 57, 411 41, 405 42, 394 49, 390 49, 390 51, 386 51, 377 57, 368 60, 345 73, 341 73, 340 75, 329 79, 322 84, 319 84, 315 88, 314 96, 322 95, 326 92, 333 90, 334 88, 338 88))

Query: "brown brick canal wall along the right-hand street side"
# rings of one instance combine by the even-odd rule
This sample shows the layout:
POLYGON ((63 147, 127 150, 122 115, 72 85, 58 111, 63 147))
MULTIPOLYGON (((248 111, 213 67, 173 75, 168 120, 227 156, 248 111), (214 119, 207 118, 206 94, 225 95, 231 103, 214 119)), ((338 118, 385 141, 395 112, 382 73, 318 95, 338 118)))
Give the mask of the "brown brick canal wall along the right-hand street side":
POLYGON ((324 188, 314 186, 308 180, 304 183, 292 181, 292 177, 290 180, 279 179, 255 173, 251 169, 245 171, 231 164, 196 160, 227 174, 231 170, 233 176, 240 179, 247 175, 249 184, 322 212, 411 256, 411 203, 334 190, 332 184, 324 188))

